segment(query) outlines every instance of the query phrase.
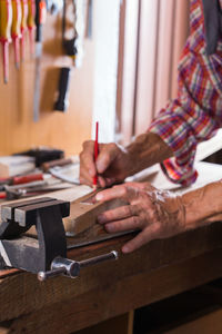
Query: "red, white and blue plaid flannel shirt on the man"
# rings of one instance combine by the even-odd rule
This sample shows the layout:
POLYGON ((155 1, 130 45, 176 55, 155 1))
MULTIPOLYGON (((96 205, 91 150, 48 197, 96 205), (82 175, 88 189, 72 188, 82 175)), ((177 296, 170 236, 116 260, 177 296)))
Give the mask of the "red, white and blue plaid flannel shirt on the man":
MULTIPOLYGON (((220 3, 222 7, 221 0, 220 3)), ((167 176, 183 186, 194 183, 196 145, 210 139, 221 127, 222 40, 216 52, 208 56, 202 1, 191 0, 190 36, 179 62, 178 98, 170 100, 149 127, 174 153, 161 164, 167 176)))

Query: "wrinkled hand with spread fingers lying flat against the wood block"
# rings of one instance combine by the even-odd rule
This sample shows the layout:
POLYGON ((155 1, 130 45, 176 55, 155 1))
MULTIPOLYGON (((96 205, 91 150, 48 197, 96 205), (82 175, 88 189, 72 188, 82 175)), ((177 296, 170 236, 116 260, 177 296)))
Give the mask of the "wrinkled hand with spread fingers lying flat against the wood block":
POLYGON ((128 203, 98 216, 98 223, 103 224, 109 233, 140 230, 122 247, 123 253, 133 252, 152 239, 185 230, 185 209, 181 197, 159 190, 149 183, 114 186, 99 193, 95 198, 102 202, 121 198, 128 203))

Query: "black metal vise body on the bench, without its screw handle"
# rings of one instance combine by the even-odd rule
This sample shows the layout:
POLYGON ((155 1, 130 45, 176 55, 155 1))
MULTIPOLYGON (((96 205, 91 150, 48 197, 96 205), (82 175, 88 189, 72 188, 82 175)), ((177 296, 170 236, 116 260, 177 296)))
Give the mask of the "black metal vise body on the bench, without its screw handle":
POLYGON ((62 217, 69 214, 69 202, 50 197, 2 205, 0 268, 49 271, 56 257, 67 256, 62 217), (37 238, 26 234, 31 226, 36 226, 37 238))

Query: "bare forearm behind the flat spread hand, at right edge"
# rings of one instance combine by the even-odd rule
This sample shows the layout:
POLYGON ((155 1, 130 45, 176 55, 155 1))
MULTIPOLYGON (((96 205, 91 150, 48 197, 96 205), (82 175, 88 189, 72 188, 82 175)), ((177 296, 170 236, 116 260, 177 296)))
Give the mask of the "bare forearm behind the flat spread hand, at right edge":
POLYGON ((222 180, 189 191, 181 199, 186 229, 216 222, 222 216, 222 180))

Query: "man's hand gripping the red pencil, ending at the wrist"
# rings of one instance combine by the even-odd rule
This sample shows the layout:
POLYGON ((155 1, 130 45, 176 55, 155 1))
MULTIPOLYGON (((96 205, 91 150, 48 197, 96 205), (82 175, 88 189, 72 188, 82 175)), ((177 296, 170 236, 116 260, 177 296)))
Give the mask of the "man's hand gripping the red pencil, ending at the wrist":
POLYGON ((94 141, 84 141, 80 154, 80 183, 92 186, 93 177, 99 174, 101 187, 120 183, 130 174, 132 161, 128 150, 114 143, 100 144, 99 156, 94 161, 94 141))

